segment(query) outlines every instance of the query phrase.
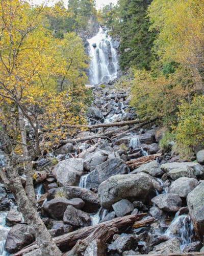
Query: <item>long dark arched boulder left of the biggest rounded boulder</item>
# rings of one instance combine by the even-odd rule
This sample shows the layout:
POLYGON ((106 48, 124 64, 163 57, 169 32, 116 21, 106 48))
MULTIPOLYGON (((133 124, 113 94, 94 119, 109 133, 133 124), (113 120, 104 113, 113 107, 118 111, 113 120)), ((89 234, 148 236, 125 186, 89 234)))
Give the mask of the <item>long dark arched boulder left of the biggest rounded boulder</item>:
POLYGON ((75 186, 65 186, 64 189, 69 199, 77 197, 81 198, 85 202, 83 207, 84 211, 95 212, 100 208, 98 195, 93 193, 91 190, 75 186))

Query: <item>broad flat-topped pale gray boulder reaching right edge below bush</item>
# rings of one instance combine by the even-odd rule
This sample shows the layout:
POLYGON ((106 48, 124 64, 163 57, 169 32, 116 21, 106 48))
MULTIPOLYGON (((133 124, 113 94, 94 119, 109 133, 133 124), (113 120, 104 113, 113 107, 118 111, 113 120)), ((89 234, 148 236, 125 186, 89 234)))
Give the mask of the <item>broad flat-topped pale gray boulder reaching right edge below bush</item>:
MULTIPOLYGON (((164 164, 161 165, 161 169, 165 173, 169 173, 172 169, 180 169, 180 168, 183 169, 183 170, 186 170, 186 173, 189 173, 189 170, 190 170, 189 167, 193 169, 193 174, 196 177, 199 178, 199 177, 202 177, 204 175, 204 168, 199 163, 194 163, 194 162, 184 162, 184 163, 172 162, 172 163, 164 163, 164 164)), ((177 177, 177 178, 180 178, 180 177, 177 177)), ((189 176, 185 176, 185 177, 189 177, 189 176)), ((189 178, 193 178, 193 177, 189 177, 189 178)))

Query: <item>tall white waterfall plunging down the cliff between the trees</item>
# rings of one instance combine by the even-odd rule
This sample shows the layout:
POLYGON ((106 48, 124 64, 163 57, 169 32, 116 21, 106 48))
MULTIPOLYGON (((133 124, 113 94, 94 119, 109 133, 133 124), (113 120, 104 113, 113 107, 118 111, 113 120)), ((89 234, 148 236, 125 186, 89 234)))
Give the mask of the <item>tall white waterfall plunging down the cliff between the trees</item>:
POLYGON ((94 37, 87 40, 90 47, 90 84, 108 83, 117 76, 118 60, 107 30, 99 28, 94 37))

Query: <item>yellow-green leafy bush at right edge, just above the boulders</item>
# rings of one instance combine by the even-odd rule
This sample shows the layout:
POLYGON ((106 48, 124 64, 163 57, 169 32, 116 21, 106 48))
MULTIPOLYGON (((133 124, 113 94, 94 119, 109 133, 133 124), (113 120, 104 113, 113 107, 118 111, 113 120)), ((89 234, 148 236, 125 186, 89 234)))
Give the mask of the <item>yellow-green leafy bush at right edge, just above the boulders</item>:
POLYGON ((204 96, 195 96, 189 104, 183 101, 179 106, 178 125, 175 127, 175 138, 178 144, 185 147, 204 146, 204 96))

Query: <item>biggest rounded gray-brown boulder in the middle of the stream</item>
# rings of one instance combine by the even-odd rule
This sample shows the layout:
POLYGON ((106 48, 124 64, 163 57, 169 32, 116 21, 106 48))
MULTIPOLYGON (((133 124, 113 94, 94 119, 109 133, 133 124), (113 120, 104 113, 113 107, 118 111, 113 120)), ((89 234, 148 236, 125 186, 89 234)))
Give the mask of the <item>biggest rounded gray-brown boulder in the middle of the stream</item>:
POLYGON ((112 176, 98 187, 100 205, 110 209, 121 199, 148 201, 154 197, 156 185, 162 189, 159 182, 145 173, 112 176))

